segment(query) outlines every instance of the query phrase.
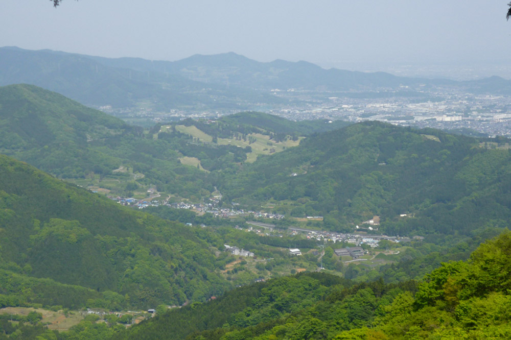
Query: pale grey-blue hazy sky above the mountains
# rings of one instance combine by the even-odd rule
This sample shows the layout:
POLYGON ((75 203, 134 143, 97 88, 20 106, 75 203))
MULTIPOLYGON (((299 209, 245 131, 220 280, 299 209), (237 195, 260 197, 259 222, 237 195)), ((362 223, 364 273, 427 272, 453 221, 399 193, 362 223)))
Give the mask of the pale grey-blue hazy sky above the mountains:
POLYGON ((154 60, 232 51, 361 70, 511 57, 509 0, 0 1, 0 46, 29 50, 154 60))

